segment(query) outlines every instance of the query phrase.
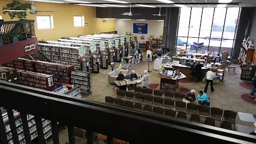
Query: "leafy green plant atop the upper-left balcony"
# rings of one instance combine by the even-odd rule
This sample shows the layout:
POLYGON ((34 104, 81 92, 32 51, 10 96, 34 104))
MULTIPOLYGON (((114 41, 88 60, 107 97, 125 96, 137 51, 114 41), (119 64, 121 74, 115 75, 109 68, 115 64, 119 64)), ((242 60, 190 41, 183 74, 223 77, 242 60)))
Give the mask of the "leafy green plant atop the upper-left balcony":
MULTIPOLYGON (((5 7, 2 7, 3 10, 30 10, 31 4, 29 2, 21 3, 17 0, 12 1, 11 3, 8 3, 5 7)), ((3 11, 4 14, 7 14, 10 16, 11 19, 14 17, 18 19, 26 19, 26 12, 23 11, 3 11)))

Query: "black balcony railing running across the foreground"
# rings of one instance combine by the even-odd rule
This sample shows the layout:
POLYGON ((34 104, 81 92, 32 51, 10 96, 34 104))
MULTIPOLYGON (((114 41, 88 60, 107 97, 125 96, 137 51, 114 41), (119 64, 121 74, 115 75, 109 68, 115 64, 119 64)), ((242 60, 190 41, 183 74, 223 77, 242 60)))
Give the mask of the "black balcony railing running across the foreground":
MULTIPOLYGON (((0 81, 0 107, 5 107, 14 143, 19 143, 13 110, 20 112, 26 143, 31 143, 26 115, 34 115, 38 143, 46 143, 41 118, 52 125, 53 143, 59 143, 57 122, 67 125, 69 143, 75 143, 74 127, 87 130, 87 143, 93 133, 129 143, 255 143, 256 137, 209 125, 187 122, 168 116, 142 112, 67 95, 55 94, 14 83, 0 81)), ((105 95, 102 95, 104 97, 105 95)), ((8 143, 5 125, 0 118, 1 143, 8 143)))

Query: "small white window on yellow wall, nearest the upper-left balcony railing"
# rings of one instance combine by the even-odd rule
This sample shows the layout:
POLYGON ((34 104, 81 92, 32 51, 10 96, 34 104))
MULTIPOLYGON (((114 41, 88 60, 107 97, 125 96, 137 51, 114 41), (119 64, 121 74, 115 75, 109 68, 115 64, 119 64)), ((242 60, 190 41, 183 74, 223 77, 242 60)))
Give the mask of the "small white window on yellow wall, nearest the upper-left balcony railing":
POLYGON ((37 29, 51 29, 53 28, 52 16, 37 16, 37 29))

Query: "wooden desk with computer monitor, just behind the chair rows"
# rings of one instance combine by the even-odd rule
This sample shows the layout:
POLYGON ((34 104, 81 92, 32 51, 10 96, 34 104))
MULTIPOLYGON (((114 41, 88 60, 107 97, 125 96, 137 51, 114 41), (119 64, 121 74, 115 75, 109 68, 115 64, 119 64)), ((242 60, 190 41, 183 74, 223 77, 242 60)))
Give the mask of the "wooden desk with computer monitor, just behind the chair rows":
POLYGON ((180 77, 165 77, 165 76, 160 76, 160 89, 162 89, 162 86, 164 83, 167 83, 167 84, 170 84, 170 85, 174 85, 175 86, 175 89, 178 88, 178 80, 180 79, 184 79, 186 76, 181 73, 181 76, 180 77))

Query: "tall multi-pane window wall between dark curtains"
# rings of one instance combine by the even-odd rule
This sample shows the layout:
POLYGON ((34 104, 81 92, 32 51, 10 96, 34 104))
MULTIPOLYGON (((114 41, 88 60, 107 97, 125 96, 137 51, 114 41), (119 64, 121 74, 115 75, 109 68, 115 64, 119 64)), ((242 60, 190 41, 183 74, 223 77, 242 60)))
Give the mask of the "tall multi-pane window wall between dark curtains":
POLYGON ((240 8, 181 8, 176 51, 232 53, 240 8))

